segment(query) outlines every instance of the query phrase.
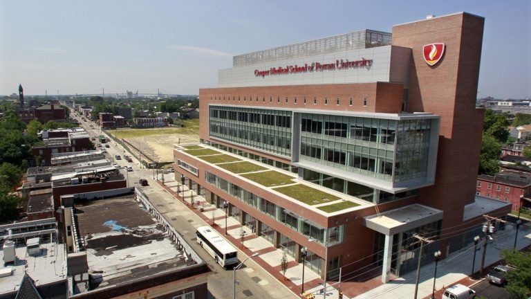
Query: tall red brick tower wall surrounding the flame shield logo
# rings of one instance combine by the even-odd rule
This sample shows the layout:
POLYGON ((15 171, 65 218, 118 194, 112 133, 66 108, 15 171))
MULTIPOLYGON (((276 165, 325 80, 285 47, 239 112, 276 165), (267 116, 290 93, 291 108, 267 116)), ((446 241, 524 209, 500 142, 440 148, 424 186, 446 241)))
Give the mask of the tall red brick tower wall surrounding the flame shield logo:
POLYGON ((482 17, 459 13, 393 27, 393 45, 412 48, 408 111, 440 118, 435 185, 419 190, 421 203, 445 211, 443 229, 463 221, 463 206, 474 201, 481 149, 483 109, 476 109, 483 39, 482 17), (422 57, 425 44, 443 42, 435 66, 422 57))

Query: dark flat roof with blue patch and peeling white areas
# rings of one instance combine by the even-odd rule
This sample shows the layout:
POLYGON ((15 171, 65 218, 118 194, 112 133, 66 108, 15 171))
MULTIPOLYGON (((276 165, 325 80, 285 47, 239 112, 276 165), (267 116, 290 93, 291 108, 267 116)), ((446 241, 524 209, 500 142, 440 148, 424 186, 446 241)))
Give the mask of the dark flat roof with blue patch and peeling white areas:
POLYGON ((133 195, 75 203, 95 289, 196 265, 133 195))

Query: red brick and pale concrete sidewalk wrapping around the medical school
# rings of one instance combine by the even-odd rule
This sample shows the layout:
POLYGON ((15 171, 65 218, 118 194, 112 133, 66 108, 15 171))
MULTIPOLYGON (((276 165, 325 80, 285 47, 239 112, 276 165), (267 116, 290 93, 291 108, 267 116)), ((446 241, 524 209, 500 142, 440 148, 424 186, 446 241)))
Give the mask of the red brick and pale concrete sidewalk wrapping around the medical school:
MULTIPOLYGON (((160 182, 159 182, 160 183, 160 182)), ((161 184, 162 185, 162 184, 161 184)), ((162 185, 168 190, 176 199, 184 201, 187 206, 194 211, 198 216, 215 228, 218 233, 225 235, 225 227, 227 235, 225 237, 237 246, 246 255, 258 255, 253 258, 265 271, 268 271, 274 278, 279 280, 291 289, 295 294, 301 293, 303 265, 295 262, 295 260, 287 255, 288 269, 284 276, 281 271, 281 259, 283 251, 279 248, 274 248, 270 242, 263 237, 258 237, 252 230, 246 226, 242 226, 239 221, 232 217, 225 217, 223 209, 216 208, 205 199, 198 196, 192 190, 180 185, 174 179, 170 179, 162 185), (226 223, 226 225, 225 225, 226 223), (245 233, 243 233, 245 232, 245 233), (242 242, 243 240, 243 242, 242 242)), ((512 248, 514 245, 514 228, 507 225, 505 230, 500 230, 494 235, 494 240, 487 244, 487 251, 485 254, 485 266, 494 264, 501 260, 500 252, 503 248, 512 248)), ((519 240, 517 247, 524 248, 531 245, 531 227, 521 226, 519 230, 519 240)), ((482 246, 478 246, 482 248, 482 246)), ((476 262, 474 271, 478 271, 481 266, 481 250, 476 253, 476 262)), ((440 294, 443 290, 452 284, 462 283, 471 285, 477 282, 469 278, 472 272, 472 256, 474 253, 474 246, 471 240, 469 246, 451 253, 445 260, 438 262, 436 291, 440 294)), ((420 271, 420 280, 418 284, 418 298, 431 298, 434 284, 434 270, 435 263, 422 266, 420 271)), ((304 267, 304 291, 305 293, 312 293, 316 299, 321 298, 338 298, 339 288, 344 294, 343 298, 382 298, 382 299, 411 299, 415 293, 416 287, 416 271, 411 271, 402 275, 400 278, 395 278, 386 284, 380 281, 380 271, 375 273, 376 277, 357 281, 344 281, 340 285, 338 282, 333 282, 331 285, 326 285, 326 291, 323 280, 320 276, 310 269, 308 265, 304 267)), ((440 295, 438 295, 440 297, 440 295)))

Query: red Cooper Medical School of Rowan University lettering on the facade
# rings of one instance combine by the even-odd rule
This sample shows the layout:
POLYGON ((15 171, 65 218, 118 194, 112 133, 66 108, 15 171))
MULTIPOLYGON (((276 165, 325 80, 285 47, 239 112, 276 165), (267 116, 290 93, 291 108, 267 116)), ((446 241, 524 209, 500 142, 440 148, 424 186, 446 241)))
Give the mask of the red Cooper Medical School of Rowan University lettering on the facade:
POLYGON ((268 75, 284 75, 289 73, 308 73, 315 71, 335 71, 343 69, 355 69, 364 67, 367 70, 371 69, 373 65, 373 60, 366 60, 362 57, 362 60, 348 61, 348 60, 336 60, 335 62, 324 64, 320 62, 312 62, 312 64, 304 65, 288 65, 286 67, 278 66, 272 67, 268 70, 254 70, 254 75, 256 77, 264 78, 268 75))

